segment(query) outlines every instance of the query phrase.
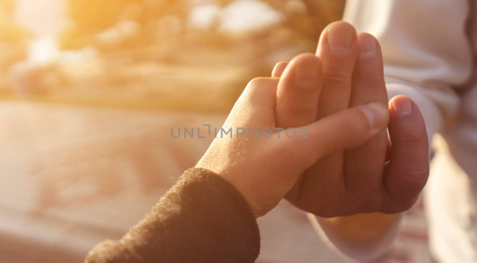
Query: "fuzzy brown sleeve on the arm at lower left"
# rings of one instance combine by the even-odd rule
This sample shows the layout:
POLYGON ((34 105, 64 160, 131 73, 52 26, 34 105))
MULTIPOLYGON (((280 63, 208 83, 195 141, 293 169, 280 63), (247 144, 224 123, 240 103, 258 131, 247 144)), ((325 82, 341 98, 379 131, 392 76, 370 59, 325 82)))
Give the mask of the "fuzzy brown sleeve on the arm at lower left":
POLYGON ((121 240, 98 244, 85 263, 249 263, 259 249, 257 221, 239 192, 191 168, 121 240))

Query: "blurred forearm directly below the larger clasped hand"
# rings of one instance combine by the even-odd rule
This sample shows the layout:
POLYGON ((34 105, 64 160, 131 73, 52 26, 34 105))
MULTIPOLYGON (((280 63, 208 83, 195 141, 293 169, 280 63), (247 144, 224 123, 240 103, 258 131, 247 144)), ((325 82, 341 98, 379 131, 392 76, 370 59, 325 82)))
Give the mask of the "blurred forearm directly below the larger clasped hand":
POLYGON ((401 214, 356 214, 322 218, 310 214, 317 229, 338 250, 355 259, 365 260, 383 253, 396 235, 401 214))

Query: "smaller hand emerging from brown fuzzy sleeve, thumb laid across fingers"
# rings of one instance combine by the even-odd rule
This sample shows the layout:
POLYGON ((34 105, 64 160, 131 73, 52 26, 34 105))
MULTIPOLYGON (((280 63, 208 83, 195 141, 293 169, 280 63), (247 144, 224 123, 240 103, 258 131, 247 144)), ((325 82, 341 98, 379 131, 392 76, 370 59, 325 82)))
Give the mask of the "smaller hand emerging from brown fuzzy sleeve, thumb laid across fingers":
MULTIPOLYGON (((321 78, 320 60, 304 55, 294 63, 295 78, 290 81, 312 89, 321 78)), ((273 209, 320 158, 362 145, 383 132, 389 119, 386 105, 370 103, 287 131, 277 126, 275 118, 278 82, 278 78, 256 78, 247 85, 222 132, 196 165, 228 180, 256 217, 273 209), (231 134, 226 134, 230 128, 231 134)))

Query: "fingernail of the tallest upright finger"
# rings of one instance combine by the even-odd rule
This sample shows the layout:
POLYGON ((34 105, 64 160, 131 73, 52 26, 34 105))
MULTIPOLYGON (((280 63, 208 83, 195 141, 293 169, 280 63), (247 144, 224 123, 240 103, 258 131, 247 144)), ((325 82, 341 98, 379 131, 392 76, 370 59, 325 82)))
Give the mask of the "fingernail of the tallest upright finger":
POLYGON ((349 26, 342 24, 331 26, 327 30, 328 45, 334 53, 345 53, 353 44, 355 32, 349 26))

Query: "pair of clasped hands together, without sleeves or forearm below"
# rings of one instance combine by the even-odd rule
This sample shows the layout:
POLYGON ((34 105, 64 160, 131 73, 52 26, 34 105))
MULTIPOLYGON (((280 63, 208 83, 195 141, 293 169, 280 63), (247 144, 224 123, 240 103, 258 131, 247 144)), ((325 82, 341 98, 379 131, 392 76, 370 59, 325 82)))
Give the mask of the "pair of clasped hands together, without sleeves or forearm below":
POLYGON ((429 173, 417 105, 406 96, 388 103, 379 42, 343 21, 323 31, 316 54, 250 81, 223 127, 272 130, 215 138, 196 166, 230 182, 257 218, 283 198, 323 218, 399 213, 429 173), (290 127, 307 137, 284 136, 290 127))

